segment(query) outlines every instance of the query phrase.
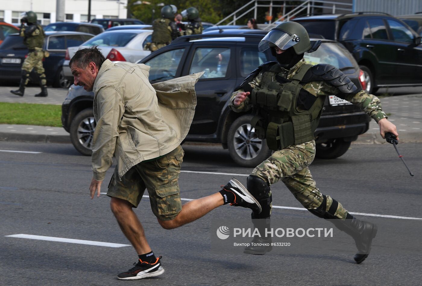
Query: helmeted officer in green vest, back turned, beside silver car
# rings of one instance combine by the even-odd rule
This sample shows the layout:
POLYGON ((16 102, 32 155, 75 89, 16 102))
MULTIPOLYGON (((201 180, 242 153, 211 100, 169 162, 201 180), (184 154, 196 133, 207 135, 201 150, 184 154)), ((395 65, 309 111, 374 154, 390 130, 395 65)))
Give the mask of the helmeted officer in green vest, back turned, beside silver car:
POLYGON ((177 8, 175 8, 176 6, 173 8, 172 5, 165 5, 161 9, 162 18, 155 19, 152 23, 153 32, 151 44, 149 45, 149 50, 151 52, 167 46, 179 35, 176 22, 174 22, 173 11, 177 11, 177 8))

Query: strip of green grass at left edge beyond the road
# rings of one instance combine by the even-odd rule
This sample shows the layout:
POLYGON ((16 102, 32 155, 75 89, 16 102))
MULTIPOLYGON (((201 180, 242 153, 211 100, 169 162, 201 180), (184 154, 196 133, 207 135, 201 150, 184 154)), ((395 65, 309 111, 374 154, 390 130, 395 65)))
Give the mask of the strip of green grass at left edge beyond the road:
POLYGON ((62 106, 0 102, 0 124, 62 126, 62 106))

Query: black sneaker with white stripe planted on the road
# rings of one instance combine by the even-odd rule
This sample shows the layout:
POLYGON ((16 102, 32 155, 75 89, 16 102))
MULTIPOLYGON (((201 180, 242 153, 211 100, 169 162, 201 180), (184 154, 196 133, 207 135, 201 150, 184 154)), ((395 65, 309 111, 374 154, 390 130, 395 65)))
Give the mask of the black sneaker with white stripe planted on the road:
POLYGON ((161 275, 164 273, 164 268, 161 266, 160 258, 161 256, 154 263, 148 263, 139 259, 138 262, 133 264, 135 267, 120 273, 117 275, 117 279, 136 280, 161 275))

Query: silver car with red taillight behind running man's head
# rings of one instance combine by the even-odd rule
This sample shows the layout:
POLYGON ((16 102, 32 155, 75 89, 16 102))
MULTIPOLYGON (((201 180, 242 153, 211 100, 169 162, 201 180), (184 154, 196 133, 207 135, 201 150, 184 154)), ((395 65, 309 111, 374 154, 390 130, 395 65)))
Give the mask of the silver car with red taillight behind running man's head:
POLYGON ((63 63, 65 77, 73 82, 69 61, 79 49, 98 46, 104 57, 111 61, 136 63, 151 53, 144 50, 145 44, 151 42, 152 30, 115 30, 100 33, 79 47, 69 47, 63 63))

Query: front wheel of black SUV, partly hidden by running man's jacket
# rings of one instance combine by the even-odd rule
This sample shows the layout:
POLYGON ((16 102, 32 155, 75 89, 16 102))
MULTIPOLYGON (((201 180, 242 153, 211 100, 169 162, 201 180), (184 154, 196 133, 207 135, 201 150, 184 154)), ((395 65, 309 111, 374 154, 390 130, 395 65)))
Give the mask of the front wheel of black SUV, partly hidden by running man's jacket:
POLYGON ((92 137, 95 126, 92 108, 84 109, 76 114, 70 124, 70 141, 82 155, 92 155, 92 137))

